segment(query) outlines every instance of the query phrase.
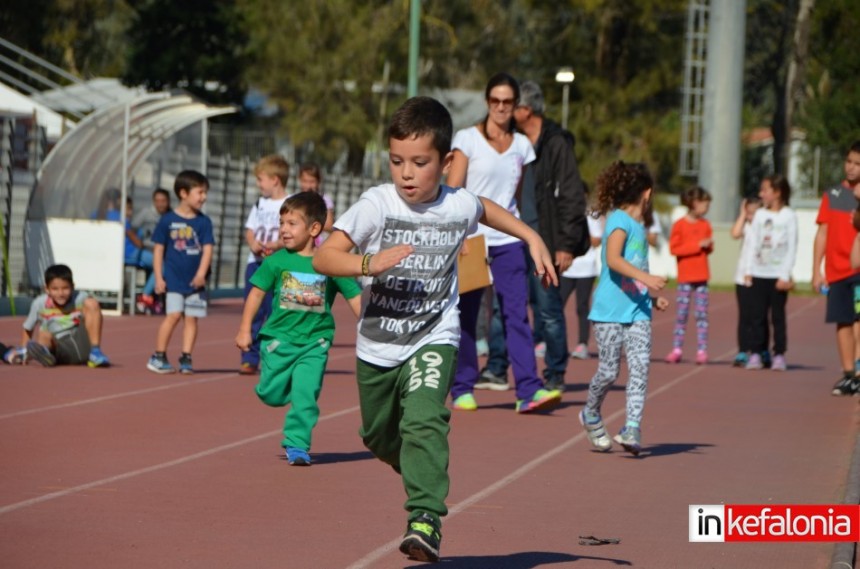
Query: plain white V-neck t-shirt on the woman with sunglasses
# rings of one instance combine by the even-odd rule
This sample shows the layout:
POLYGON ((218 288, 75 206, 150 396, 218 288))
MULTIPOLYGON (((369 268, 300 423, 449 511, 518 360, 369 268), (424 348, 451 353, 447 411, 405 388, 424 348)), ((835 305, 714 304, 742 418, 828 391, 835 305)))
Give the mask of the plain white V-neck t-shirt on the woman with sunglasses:
MULTIPOLYGON (((522 177, 523 166, 535 159, 535 152, 529 139, 520 133, 514 133, 511 146, 500 153, 490 146, 478 127, 473 126, 458 130, 451 147, 459 150, 469 159, 466 170, 466 189, 476 196, 493 200, 519 219, 517 184, 522 177)), ((516 237, 486 225, 480 225, 477 233, 486 237, 487 245, 490 247, 518 241, 516 237)))

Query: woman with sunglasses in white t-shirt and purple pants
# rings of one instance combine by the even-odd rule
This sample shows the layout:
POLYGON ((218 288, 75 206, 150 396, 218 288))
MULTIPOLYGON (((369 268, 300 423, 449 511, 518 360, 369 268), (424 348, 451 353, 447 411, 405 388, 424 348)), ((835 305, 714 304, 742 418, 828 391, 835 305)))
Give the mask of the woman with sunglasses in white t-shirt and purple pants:
MULTIPOLYGON (((447 183, 491 199, 519 218, 516 195, 523 166, 535 159, 531 142, 515 130, 514 107, 520 97, 516 79, 507 73, 490 78, 485 90, 487 115, 475 126, 457 131, 452 148, 454 160, 447 183)), ((479 226, 489 248, 490 270, 502 322, 508 357, 516 384, 516 411, 530 413, 550 409, 561 401, 561 392, 544 389, 537 375, 532 331, 529 325, 528 280, 522 241, 484 225, 479 226)), ((460 350, 457 374, 451 388, 454 408, 478 408, 474 388, 478 380, 475 331, 483 289, 460 295, 460 350)))

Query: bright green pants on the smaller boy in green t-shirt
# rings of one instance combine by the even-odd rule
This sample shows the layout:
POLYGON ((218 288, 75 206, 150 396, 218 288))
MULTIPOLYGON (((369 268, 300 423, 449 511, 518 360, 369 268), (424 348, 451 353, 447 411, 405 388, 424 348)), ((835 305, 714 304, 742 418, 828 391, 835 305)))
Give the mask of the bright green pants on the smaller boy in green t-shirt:
POLYGON ((291 405, 284 417, 284 447, 306 451, 311 431, 320 416, 317 399, 331 343, 320 340, 306 345, 264 338, 260 342, 260 383, 257 397, 272 407, 291 405))

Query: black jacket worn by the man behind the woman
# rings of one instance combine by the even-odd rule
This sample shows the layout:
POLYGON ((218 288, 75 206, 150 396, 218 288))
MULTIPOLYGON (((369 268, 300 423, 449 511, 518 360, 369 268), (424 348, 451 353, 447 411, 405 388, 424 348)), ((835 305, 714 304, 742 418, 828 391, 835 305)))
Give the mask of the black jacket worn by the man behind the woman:
POLYGON ((585 219, 585 187, 573 153, 573 134, 544 117, 533 168, 538 233, 550 253, 584 255, 591 243, 585 219))

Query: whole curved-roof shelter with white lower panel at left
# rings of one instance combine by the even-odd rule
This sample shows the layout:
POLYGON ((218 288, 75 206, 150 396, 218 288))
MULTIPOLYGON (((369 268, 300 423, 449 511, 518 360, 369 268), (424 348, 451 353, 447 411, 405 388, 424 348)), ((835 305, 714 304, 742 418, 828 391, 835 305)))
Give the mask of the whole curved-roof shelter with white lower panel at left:
POLYGON ((130 180, 165 141, 200 123, 199 169, 206 171, 209 117, 235 112, 188 96, 154 93, 82 120, 45 158, 30 198, 24 246, 27 273, 41 286, 55 263, 71 267, 75 286, 122 311, 125 201, 130 180), (107 201, 120 223, 104 219, 107 201), (118 202, 118 203, 117 203, 118 202))

